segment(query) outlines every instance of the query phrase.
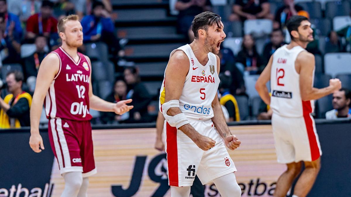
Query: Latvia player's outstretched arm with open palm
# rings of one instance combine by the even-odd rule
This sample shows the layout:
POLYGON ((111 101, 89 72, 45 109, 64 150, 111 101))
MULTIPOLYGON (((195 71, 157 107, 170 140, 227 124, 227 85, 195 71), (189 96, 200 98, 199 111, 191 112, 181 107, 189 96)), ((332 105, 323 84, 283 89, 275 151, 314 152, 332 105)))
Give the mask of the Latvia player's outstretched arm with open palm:
MULTIPOLYGON (((91 61, 88 56, 85 58, 89 61, 89 65, 91 65, 91 61)), ((90 69, 91 70, 91 69, 90 69)), ((107 102, 103 99, 100 99, 98 96, 93 94, 93 87, 91 83, 91 72, 90 72, 90 83, 89 83, 89 102, 90 108, 98 111, 110 111, 116 114, 124 114, 127 111, 133 109, 133 106, 128 106, 127 103, 131 103, 132 99, 122 100, 117 103, 107 102)))

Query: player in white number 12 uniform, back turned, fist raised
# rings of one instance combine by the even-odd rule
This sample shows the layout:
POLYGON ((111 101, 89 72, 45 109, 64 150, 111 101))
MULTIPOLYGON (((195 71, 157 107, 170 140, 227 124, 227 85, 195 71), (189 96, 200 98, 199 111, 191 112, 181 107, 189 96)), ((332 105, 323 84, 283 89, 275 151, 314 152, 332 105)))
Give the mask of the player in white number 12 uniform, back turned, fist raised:
POLYGON ((286 24, 291 43, 276 50, 256 82, 263 101, 273 110, 272 127, 279 163, 287 170, 279 177, 275 197, 285 197, 301 171, 293 197, 305 197, 311 190, 320 169, 322 151, 312 113, 313 100, 341 88, 338 79, 329 86, 313 88, 314 55, 305 50, 313 41, 311 23, 304 16, 292 16, 286 24), (266 83, 271 80, 270 97, 266 83))

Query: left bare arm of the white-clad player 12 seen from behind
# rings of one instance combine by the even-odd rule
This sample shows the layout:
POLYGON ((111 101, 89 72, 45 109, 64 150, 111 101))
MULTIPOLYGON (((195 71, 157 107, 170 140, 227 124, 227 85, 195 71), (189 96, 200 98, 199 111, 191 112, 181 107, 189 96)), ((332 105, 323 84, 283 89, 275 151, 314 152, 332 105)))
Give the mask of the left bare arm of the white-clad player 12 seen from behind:
POLYGON ((260 95, 261 99, 267 104, 271 104, 271 97, 269 96, 269 92, 266 86, 266 83, 271 79, 271 68, 272 68, 273 55, 269 59, 269 62, 265 69, 262 71, 260 76, 258 77, 255 88, 260 95))

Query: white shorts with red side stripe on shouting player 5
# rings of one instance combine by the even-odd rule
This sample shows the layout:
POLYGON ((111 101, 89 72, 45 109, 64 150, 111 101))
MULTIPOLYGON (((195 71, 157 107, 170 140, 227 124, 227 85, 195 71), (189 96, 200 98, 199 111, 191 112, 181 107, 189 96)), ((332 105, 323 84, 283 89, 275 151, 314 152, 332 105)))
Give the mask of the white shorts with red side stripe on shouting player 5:
POLYGON ((191 186, 195 175, 202 184, 206 184, 237 171, 212 120, 189 122, 201 135, 212 138, 216 144, 207 151, 201 150, 183 131, 171 127, 165 121, 168 184, 178 187, 191 186))

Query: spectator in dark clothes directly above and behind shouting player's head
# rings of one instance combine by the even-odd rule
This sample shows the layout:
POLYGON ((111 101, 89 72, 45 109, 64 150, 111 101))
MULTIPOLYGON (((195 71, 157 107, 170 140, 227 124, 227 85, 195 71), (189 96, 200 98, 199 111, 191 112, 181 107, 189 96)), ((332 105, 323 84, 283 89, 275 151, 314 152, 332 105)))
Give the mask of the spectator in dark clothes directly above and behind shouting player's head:
POLYGON ((177 0, 175 9, 179 11, 178 14, 178 32, 188 37, 190 42, 194 40, 194 33, 191 30, 191 23, 194 16, 211 11, 210 0, 177 0))

